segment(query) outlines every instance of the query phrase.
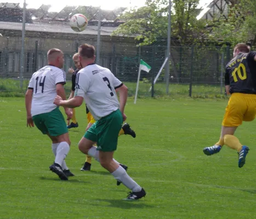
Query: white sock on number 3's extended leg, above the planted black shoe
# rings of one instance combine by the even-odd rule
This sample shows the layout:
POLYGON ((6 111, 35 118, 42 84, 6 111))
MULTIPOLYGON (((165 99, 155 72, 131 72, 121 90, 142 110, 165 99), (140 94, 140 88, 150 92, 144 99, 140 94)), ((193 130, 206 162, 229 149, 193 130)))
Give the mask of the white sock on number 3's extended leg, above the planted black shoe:
POLYGON ((123 183, 124 186, 131 189, 133 192, 140 192, 141 187, 127 174, 126 170, 119 166, 115 171, 112 172, 113 177, 116 180, 123 183))

